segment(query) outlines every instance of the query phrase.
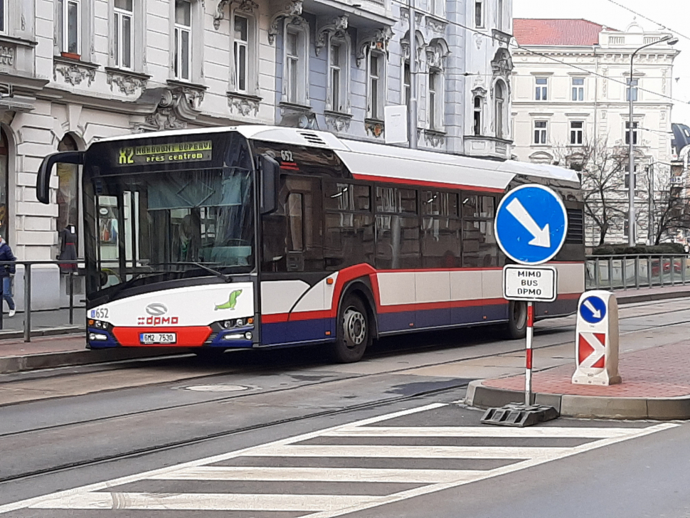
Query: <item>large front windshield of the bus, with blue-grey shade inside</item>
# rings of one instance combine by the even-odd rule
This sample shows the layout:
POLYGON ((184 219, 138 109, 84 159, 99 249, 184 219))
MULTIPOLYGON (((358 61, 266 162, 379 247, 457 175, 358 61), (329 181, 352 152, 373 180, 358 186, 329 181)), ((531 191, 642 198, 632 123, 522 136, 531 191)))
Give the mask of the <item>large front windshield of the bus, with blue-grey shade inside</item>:
MULTIPOLYGON (((88 292, 106 295, 116 286, 119 292, 122 287, 255 268, 248 147, 239 146, 238 152, 238 139, 218 140, 203 144, 214 154, 222 147, 222 160, 174 163, 162 170, 160 165, 154 171, 138 166, 132 173, 122 167, 104 169, 103 153, 97 155, 99 165, 90 167, 87 161, 88 292), (235 152, 230 152, 227 146, 233 144, 235 152)), ((139 142, 128 145, 144 148, 139 142)), ((146 152, 170 147, 147 145, 146 152)))

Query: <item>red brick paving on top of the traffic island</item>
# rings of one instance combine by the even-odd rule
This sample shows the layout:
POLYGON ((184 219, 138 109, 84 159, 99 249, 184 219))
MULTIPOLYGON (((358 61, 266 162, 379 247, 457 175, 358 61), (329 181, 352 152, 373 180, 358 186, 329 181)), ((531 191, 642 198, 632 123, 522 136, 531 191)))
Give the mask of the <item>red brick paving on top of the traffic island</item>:
MULTIPOLYGON (((617 398, 669 398, 690 395, 690 340, 626 353, 620 356, 622 383, 611 386, 575 385, 570 382, 575 364, 535 372, 535 393, 605 396, 617 398)), ((485 386, 524 391, 525 376, 489 379, 485 386)))

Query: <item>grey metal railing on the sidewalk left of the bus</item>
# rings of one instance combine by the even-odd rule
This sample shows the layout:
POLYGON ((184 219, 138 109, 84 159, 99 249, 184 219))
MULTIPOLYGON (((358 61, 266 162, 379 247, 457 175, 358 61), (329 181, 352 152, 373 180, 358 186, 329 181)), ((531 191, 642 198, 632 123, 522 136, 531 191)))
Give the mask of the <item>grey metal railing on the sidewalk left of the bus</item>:
MULTIPOLYGON (((68 309, 68 321, 74 324, 75 309, 84 307, 84 297, 75 304, 75 296, 84 294, 84 260, 0 261, 0 270, 14 265, 14 302, 23 312, 24 342, 31 342, 32 313, 42 310, 68 309), (34 278, 36 277, 36 278, 34 278)), ((0 294, 2 287, 0 285, 0 294)), ((4 302, 0 300, 0 310, 4 302)), ((0 329, 4 318, 0 311, 0 329)))

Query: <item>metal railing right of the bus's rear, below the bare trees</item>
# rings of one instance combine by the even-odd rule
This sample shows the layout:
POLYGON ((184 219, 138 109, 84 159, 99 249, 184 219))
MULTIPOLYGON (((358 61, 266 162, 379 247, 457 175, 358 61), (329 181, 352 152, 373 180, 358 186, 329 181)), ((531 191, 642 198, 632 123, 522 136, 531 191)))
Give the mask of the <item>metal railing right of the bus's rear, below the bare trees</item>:
POLYGON ((690 281, 686 254, 588 255, 585 287, 588 290, 684 285, 690 281))

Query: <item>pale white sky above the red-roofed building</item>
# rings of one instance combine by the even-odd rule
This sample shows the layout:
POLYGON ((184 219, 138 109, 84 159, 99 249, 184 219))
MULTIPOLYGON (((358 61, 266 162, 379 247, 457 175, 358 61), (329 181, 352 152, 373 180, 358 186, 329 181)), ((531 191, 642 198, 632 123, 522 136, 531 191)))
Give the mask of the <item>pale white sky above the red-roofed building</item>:
POLYGON ((677 80, 672 81, 671 95, 677 101, 671 120, 686 125, 690 125, 690 26, 684 23, 690 19, 688 15, 687 0, 513 0, 513 18, 584 18, 620 31, 635 21, 647 31, 661 28, 672 32, 678 38, 674 48, 680 54, 673 66, 677 80))

